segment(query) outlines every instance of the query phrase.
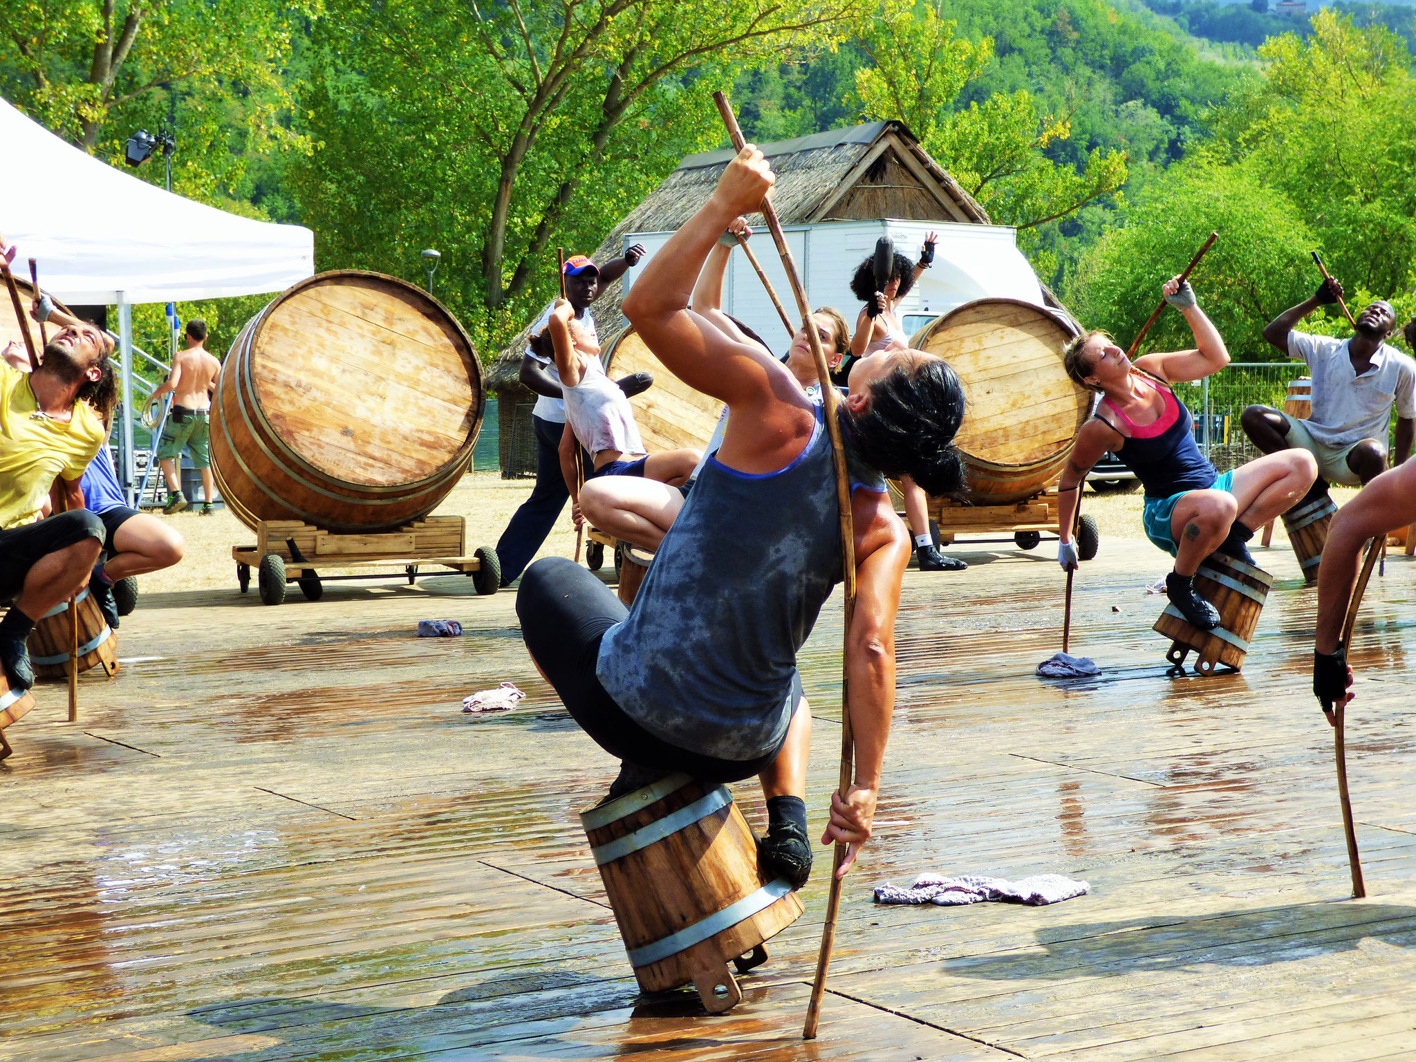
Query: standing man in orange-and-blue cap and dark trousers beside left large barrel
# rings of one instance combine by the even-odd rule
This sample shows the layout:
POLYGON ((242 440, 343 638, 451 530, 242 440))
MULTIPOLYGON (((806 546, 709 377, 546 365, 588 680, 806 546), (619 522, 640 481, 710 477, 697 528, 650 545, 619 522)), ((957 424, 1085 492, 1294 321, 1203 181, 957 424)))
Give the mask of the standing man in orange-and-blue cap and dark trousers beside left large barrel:
MULTIPOLYGON (((599 269, 585 255, 572 255, 565 259, 565 297, 575 310, 578 320, 599 338, 595 331, 595 317, 590 316, 590 303, 623 276, 624 270, 639 262, 644 248, 639 244, 599 269)), ((531 326, 535 334, 551 320, 552 300, 531 326)), ((531 497, 521 503, 521 507, 511 515, 511 523, 501 532, 497 541, 497 559, 501 561, 501 585, 507 586, 521 575, 521 571, 531 564, 537 549, 551 534, 555 521, 559 518, 565 503, 571 498, 565 489, 565 479, 561 474, 561 435, 565 430, 565 405, 561 401, 561 377, 556 375, 555 365, 538 357, 527 347, 521 358, 521 384, 538 395, 535 406, 531 409, 531 425, 535 429, 535 489, 531 497)), ((619 381, 627 395, 637 395, 651 379, 647 372, 626 377, 619 381), (646 379, 639 379, 646 377, 646 379)))

